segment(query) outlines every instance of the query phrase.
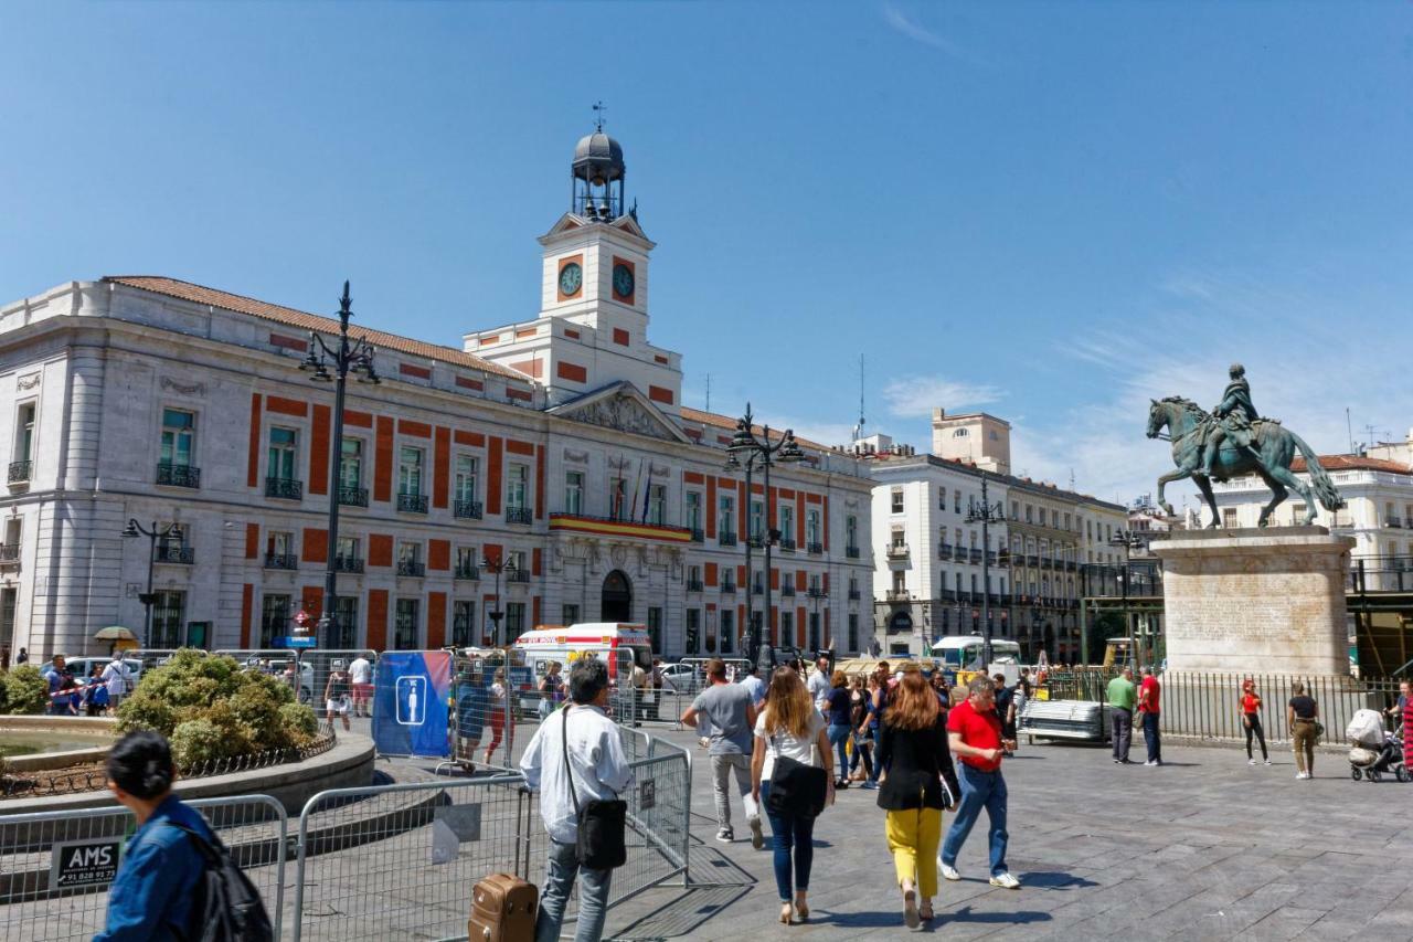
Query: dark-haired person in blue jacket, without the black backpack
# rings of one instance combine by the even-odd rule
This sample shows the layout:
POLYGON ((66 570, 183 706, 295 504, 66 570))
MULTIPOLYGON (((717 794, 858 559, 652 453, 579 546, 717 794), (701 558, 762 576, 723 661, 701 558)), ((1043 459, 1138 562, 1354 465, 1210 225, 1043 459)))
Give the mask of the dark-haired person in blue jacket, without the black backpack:
POLYGON ((177 767, 167 740, 129 733, 107 754, 107 786, 137 818, 107 894, 106 928, 93 942, 165 942, 189 938, 196 883, 205 873, 188 827, 208 842, 206 819, 172 793, 177 767))

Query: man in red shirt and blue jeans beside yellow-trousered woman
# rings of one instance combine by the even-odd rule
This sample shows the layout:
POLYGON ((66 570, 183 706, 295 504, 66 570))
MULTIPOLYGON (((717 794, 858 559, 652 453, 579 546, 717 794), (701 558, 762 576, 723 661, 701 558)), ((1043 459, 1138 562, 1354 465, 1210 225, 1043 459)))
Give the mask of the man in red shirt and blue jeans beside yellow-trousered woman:
POLYGON ((961 760, 957 778, 962 798, 942 842, 942 876, 962 878, 957 873, 957 854, 985 808, 991 822, 991 885, 1016 890, 1020 881, 1006 867, 1006 779, 1000 774, 1002 754, 1016 744, 1002 738, 995 704, 996 687, 991 678, 978 673, 966 683, 966 699, 947 714, 947 741, 961 760))

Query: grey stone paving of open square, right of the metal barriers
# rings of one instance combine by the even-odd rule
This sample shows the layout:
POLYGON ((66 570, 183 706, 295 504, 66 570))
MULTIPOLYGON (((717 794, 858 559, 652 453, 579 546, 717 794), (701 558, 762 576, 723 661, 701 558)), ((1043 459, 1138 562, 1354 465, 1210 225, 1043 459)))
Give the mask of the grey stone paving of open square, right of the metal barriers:
MULTIPOLYGON (((657 730, 650 730, 658 733, 657 730)), ((755 851, 739 805, 738 840, 715 837, 705 752, 692 745, 691 885, 609 914, 620 939, 855 939, 907 932, 876 792, 851 788, 815 827, 811 918, 786 928, 769 843, 755 851)), ((988 883, 985 819, 941 881, 948 939, 1413 939, 1413 785, 1354 782, 1318 755, 1296 781, 1289 748, 1251 767, 1239 745, 1164 748, 1167 764, 1118 767, 1106 748, 1022 745, 1005 771, 1009 864, 1022 890, 988 883)), ((1136 744, 1135 755, 1142 755, 1136 744)), ((944 820, 950 825, 951 815, 944 820)), ((769 840, 769 826, 767 826, 769 840)))

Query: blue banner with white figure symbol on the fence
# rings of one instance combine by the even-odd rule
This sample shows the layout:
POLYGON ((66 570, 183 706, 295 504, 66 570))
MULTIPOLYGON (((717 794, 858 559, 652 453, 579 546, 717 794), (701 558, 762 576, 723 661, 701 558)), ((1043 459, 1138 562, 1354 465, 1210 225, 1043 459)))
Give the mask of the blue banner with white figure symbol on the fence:
POLYGON ((389 651, 377 659, 373 741, 380 755, 449 757, 451 652, 389 651))

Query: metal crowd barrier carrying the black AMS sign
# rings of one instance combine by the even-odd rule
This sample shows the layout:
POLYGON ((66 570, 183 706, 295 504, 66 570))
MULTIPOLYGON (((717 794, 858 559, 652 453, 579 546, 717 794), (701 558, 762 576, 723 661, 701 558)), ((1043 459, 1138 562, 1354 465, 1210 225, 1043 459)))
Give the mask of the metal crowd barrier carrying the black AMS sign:
MULTIPOLYGON (((284 917, 288 822, 268 795, 187 802, 256 884, 276 938, 284 917)), ((66 942, 103 929, 107 888, 136 822, 126 808, 0 816, 0 939, 66 942)))

